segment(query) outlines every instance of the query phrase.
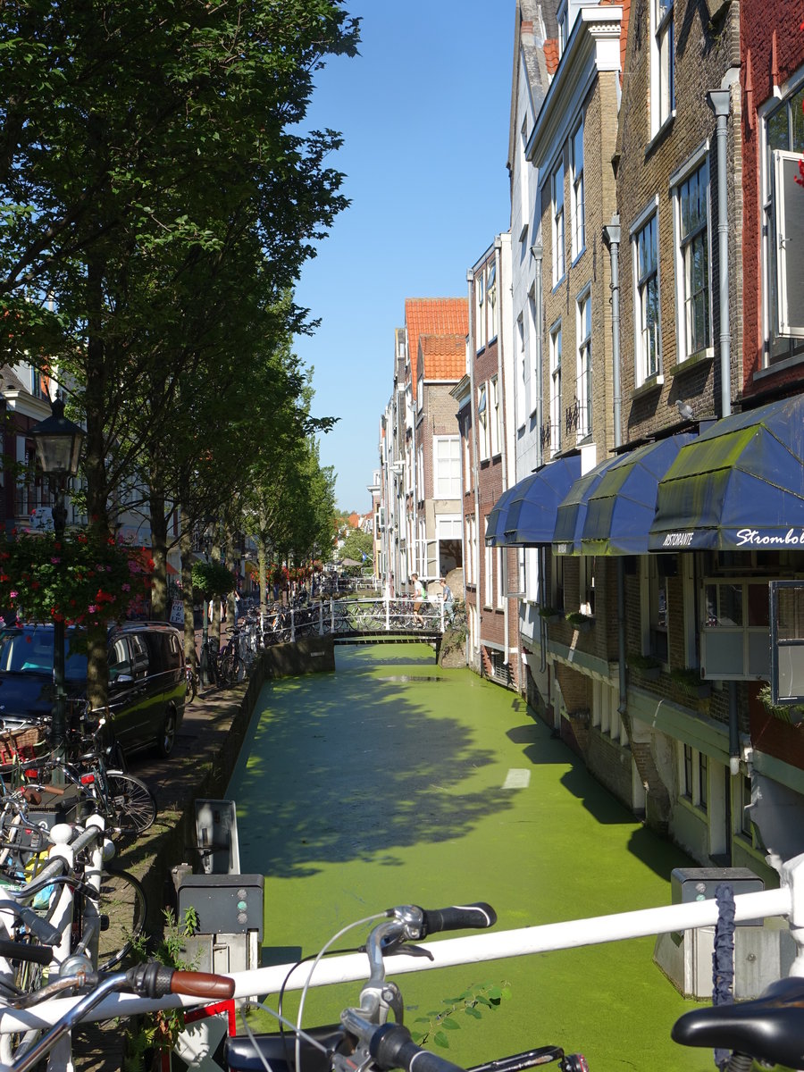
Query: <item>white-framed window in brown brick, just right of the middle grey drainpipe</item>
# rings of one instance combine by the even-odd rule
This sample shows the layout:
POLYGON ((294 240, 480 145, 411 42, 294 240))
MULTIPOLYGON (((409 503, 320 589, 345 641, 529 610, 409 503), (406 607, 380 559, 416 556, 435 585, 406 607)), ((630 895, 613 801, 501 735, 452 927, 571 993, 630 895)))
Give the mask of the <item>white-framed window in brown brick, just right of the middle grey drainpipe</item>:
POLYGON ((658 198, 631 226, 634 355, 637 386, 662 383, 658 198), (653 263, 650 260, 652 254, 653 263), (651 291, 655 315, 651 318, 651 291))

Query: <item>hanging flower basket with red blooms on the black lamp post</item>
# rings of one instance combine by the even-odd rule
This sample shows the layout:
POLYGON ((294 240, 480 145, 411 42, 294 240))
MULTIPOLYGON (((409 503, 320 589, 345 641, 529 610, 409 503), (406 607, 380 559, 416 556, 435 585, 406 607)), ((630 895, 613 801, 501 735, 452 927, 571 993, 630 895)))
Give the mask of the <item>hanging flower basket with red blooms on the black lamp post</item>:
POLYGON ((105 625, 143 609, 152 569, 114 536, 13 531, 0 536, 0 607, 26 622, 105 625))

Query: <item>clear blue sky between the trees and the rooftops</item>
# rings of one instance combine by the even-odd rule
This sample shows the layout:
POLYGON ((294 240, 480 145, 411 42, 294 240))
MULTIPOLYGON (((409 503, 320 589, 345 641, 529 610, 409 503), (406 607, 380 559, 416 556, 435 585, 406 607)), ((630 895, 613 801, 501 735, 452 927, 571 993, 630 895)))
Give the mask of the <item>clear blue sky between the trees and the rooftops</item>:
POLYGON ((341 131, 332 166, 352 206, 308 263, 296 300, 322 325, 296 353, 316 416, 338 416, 321 458, 343 509, 367 512, 379 417, 405 298, 464 297, 466 269, 508 229, 513 0, 346 0, 360 56, 316 74, 309 126, 341 131))

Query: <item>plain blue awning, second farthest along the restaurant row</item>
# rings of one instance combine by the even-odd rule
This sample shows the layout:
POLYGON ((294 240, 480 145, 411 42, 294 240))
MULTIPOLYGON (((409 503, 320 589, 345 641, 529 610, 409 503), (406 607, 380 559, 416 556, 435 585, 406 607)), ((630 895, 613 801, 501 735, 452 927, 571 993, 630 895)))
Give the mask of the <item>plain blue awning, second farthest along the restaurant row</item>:
POLYGON ((559 504, 581 475, 580 455, 556 458, 511 489, 505 542, 516 547, 549 546, 559 504))

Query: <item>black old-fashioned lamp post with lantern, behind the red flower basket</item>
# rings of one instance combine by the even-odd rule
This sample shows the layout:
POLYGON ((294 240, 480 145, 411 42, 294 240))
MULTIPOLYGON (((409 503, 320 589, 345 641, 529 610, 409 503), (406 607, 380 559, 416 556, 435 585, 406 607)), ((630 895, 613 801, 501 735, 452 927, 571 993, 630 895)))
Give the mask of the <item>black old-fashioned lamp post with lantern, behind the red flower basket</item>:
MULTIPOLYGON (((64 416, 64 403, 55 398, 50 403, 50 416, 34 425, 30 434, 36 445, 36 458, 42 472, 48 478, 54 493, 53 524, 56 538, 64 535, 66 506, 64 491, 68 480, 78 472, 84 429, 64 416)), ((66 739, 66 694, 64 690, 64 621, 54 620, 53 629, 53 680, 56 687, 56 702, 50 725, 50 750, 55 758, 62 758, 66 739)))

